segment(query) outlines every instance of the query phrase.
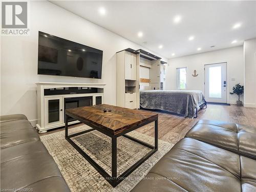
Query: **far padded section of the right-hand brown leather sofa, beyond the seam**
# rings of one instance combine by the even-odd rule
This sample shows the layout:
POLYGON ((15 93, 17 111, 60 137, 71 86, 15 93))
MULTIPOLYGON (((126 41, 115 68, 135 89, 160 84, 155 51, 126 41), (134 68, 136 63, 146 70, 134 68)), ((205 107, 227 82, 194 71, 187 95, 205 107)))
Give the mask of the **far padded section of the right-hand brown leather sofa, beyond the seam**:
POLYGON ((256 128, 236 123, 200 120, 186 137, 204 141, 240 155, 256 158, 256 128))

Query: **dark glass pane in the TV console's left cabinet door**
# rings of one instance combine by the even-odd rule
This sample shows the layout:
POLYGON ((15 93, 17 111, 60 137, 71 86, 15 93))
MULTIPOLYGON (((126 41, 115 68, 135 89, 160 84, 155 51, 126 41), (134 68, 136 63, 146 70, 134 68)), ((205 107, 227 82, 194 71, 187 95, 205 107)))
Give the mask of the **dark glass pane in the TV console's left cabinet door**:
POLYGON ((59 99, 48 100, 48 123, 59 121, 59 99))

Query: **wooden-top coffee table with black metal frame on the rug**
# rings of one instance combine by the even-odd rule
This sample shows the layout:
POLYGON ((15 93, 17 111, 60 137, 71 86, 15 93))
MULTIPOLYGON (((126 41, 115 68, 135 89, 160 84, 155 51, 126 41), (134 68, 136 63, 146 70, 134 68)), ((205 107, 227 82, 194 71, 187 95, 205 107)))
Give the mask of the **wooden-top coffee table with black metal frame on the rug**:
POLYGON ((65 138, 69 143, 86 159, 113 187, 118 185, 125 177, 130 175, 138 166, 152 156, 158 149, 158 114, 142 111, 120 108, 107 104, 94 106, 83 106, 75 109, 67 109, 65 118, 65 138), (109 108, 111 112, 103 112, 103 109, 109 108), (73 135, 68 135, 68 118, 72 117, 84 124, 89 125, 92 129, 82 131, 73 135), (138 129, 148 123, 155 121, 155 146, 147 144, 131 136, 125 135, 138 129), (91 157, 71 140, 72 137, 97 130, 112 139, 112 176, 105 172, 91 157), (152 150, 142 157, 138 162, 128 168, 123 174, 117 177, 117 138, 123 136, 152 150))

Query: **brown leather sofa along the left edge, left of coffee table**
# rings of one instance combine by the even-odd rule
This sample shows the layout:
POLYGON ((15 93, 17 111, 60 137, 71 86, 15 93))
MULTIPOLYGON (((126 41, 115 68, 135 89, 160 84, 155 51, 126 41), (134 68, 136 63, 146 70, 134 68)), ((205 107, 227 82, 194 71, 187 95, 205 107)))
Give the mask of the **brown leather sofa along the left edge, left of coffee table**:
POLYGON ((0 117, 1 191, 70 191, 25 115, 0 117))

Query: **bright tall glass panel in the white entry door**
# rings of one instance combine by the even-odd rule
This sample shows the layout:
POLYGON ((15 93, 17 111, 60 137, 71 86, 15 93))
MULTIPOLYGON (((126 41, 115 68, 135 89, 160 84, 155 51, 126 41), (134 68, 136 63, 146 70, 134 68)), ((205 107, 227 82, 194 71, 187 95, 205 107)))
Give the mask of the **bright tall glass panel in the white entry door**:
POLYGON ((209 97, 221 98, 221 66, 209 67, 209 97))

